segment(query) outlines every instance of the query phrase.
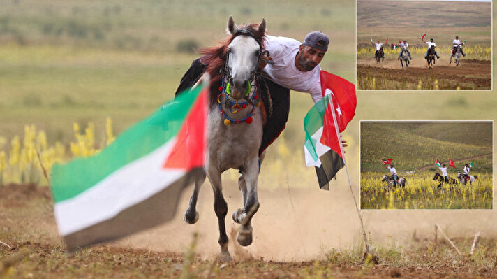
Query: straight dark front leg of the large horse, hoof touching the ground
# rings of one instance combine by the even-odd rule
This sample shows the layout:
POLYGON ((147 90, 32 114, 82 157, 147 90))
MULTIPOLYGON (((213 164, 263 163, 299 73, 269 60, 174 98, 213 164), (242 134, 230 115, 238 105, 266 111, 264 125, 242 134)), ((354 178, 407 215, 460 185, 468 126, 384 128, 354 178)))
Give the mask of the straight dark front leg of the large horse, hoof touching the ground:
POLYGON ((228 235, 226 234, 225 217, 228 213, 228 203, 226 203, 223 196, 223 187, 221 185, 221 171, 209 168, 207 176, 214 191, 214 211, 218 217, 219 225, 219 240, 221 246, 221 262, 232 262, 233 258, 228 252, 228 235))

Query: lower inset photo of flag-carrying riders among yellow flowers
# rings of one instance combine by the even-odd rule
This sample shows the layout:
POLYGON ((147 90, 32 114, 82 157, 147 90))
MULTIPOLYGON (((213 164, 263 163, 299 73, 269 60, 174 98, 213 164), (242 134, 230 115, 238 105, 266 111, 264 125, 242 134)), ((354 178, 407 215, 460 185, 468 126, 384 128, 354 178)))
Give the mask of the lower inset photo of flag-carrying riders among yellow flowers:
POLYGON ((361 121, 361 209, 492 209, 493 121, 361 121))

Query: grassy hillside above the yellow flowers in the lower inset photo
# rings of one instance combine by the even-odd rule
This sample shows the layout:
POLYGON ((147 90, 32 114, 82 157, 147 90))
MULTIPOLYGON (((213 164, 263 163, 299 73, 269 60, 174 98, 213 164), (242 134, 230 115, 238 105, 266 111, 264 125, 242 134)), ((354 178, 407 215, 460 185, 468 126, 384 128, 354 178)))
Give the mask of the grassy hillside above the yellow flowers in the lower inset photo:
POLYGON ((361 171, 385 171, 380 159, 386 158, 398 171, 453 159, 456 169, 450 171, 459 171, 463 159, 475 158, 473 171, 491 172, 491 139, 491 122, 361 122, 361 171), (457 134, 455 127, 475 132, 457 134))

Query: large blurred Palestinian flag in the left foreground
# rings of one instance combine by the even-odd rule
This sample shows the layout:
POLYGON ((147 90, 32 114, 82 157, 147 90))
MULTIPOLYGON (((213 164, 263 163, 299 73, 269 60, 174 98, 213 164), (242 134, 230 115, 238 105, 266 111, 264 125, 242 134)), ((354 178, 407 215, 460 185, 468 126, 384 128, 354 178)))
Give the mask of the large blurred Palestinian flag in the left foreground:
POLYGON ((55 219, 68 250, 170 220, 181 191, 202 171, 206 90, 179 94, 89 158, 55 165, 55 219))

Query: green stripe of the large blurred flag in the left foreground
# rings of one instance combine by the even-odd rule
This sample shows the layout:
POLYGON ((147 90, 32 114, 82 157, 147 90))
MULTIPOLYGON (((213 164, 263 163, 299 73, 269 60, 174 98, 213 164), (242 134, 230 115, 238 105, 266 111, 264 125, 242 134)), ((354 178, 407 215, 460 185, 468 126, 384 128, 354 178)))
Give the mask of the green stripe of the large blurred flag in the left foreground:
MULTIPOLYGON (((201 87, 183 92, 161 110, 124 131, 98 155, 56 164, 52 169, 54 202, 71 199, 112 172, 143 157, 175 136, 201 87)), ((166 158, 164 158, 165 160, 166 158)))

